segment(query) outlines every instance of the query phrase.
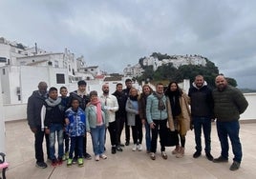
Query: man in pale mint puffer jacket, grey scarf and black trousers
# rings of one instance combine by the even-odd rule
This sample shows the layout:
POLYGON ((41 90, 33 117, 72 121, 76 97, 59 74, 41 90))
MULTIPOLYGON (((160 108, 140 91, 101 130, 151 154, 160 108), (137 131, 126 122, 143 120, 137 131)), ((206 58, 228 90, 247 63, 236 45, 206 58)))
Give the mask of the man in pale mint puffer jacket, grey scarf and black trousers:
POLYGON ((147 97, 146 104, 146 118, 147 122, 150 125, 152 132, 151 139, 151 153, 150 158, 156 160, 156 150, 157 150, 157 141, 158 135, 160 133, 160 151, 161 157, 166 160, 167 154, 164 147, 164 135, 167 129, 166 123, 168 119, 167 112, 167 97, 163 93, 163 85, 161 83, 157 84, 156 92, 153 92, 147 97))

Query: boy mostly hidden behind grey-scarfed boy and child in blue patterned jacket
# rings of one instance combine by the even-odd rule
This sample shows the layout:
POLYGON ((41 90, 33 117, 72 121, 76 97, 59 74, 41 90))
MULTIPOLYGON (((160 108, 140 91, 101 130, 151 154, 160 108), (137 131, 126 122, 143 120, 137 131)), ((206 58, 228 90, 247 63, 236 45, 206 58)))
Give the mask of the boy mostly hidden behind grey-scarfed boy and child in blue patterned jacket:
MULTIPOLYGON (((68 89, 66 87, 61 87, 59 89, 60 97, 61 97, 61 104, 63 107, 65 107, 65 110, 68 109, 69 104, 69 97, 68 97, 68 89)), ((70 137, 66 132, 66 125, 63 132, 63 143, 64 143, 64 151, 65 154, 62 157, 62 160, 68 160, 69 158, 69 146, 70 146, 70 137)))

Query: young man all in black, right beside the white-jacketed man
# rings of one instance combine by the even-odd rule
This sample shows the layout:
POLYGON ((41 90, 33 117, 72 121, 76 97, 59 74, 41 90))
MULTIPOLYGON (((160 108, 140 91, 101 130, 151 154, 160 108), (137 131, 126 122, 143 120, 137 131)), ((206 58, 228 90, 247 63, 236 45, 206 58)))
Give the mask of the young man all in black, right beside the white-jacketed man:
POLYGON ((116 91, 113 93, 117 97, 118 102, 118 110, 116 111, 116 124, 117 124, 117 145, 120 147, 124 147, 123 144, 121 144, 120 138, 121 138, 121 132, 123 129, 123 125, 126 119, 126 110, 125 110, 125 103, 126 103, 126 96, 122 92, 122 84, 117 83, 116 91))

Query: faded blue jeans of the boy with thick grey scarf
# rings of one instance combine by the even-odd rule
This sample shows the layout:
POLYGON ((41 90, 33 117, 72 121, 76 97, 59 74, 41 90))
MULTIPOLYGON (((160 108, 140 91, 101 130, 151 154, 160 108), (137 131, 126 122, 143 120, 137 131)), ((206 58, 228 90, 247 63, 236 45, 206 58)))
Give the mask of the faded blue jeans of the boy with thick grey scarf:
POLYGON ((50 126, 50 158, 51 160, 56 159, 55 157, 55 134, 57 135, 58 143, 58 158, 63 156, 63 125, 61 124, 52 124, 50 126))

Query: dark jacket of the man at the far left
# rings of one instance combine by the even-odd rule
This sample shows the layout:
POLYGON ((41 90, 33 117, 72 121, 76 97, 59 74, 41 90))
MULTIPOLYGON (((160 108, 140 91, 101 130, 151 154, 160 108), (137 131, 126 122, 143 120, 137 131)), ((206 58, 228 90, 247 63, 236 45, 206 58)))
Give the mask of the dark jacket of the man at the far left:
POLYGON ((30 128, 41 128, 41 109, 45 104, 47 95, 40 95, 38 90, 34 90, 29 97, 27 105, 27 119, 30 128))

